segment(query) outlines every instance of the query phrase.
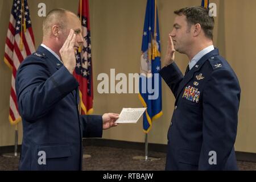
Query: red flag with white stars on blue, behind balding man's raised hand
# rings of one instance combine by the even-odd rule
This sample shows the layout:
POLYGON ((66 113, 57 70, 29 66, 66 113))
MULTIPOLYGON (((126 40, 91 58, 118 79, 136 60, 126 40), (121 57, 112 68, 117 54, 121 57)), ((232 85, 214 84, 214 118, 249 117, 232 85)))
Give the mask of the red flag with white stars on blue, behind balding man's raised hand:
POLYGON ((80 0, 78 12, 84 44, 76 54, 76 69, 73 75, 79 82, 81 114, 91 114, 93 112, 93 77, 88 0, 80 0))

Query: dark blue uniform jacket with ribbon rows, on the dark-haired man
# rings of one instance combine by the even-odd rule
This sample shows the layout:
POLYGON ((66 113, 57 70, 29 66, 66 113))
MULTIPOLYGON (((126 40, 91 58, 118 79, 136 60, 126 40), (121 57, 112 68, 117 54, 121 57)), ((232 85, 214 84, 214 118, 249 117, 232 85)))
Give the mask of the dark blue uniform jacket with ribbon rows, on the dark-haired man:
POLYGON ((168 130, 166 170, 236 170, 240 85, 218 49, 183 77, 175 63, 160 75, 176 101, 168 130))

